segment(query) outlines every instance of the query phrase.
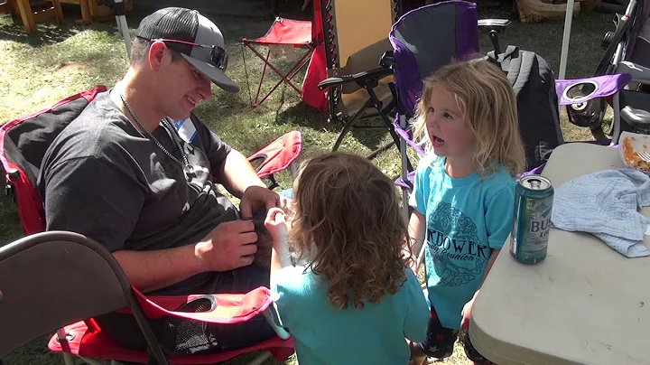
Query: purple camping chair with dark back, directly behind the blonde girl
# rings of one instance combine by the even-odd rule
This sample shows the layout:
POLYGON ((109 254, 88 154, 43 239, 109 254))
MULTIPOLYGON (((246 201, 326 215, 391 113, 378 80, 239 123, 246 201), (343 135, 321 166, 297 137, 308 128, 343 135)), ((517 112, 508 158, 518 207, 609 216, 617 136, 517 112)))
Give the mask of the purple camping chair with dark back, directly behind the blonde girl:
POLYGON ((478 53, 477 5, 460 0, 424 5, 402 15, 393 24, 388 39, 393 52, 385 54, 382 64, 395 73, 397 113, 393 126, 401 136, 402 173, 395 183, 403 188, 404 217, 408 219, 406 201, 413 188, 413 171, 408 168, 407 145, 420 156, 424 154, 422 147, 413 142, 408 119, 413 117, 422 92, 422 80, 453 59, 463 60, 478 53))

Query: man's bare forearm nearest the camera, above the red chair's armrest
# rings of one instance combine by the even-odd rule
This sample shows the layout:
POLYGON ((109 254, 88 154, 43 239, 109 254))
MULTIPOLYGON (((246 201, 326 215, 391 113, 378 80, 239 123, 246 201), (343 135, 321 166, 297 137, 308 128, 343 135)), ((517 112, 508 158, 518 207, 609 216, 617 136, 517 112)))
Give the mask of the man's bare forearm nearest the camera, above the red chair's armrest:
POLYGON ((205 270, 194 245, 154 251, 116 251, 113 256, 131 285, 141 292, 173 285, 205 270))

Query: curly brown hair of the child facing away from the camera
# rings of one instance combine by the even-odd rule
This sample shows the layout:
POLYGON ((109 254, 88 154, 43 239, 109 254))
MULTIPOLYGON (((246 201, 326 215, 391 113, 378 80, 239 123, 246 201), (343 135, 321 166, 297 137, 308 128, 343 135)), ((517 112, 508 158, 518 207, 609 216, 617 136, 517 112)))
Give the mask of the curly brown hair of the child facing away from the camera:
POLYGON ((336 309, 379 303, 406 280, 408 231, 395 186, 367 158, 329 153, 305 161, 293 209, 289 243, 336 309))

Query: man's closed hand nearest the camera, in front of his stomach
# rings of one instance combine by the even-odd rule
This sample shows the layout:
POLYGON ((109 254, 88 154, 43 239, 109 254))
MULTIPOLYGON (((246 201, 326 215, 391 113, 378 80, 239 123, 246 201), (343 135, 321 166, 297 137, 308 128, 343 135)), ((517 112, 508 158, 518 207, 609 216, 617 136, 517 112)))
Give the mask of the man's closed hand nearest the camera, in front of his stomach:
POLYGON ((252 220, 232 220, 219 224, 195 246, 194 254, 205 263, 206 271, 227 271, 253 263, 257 234, 252 220))

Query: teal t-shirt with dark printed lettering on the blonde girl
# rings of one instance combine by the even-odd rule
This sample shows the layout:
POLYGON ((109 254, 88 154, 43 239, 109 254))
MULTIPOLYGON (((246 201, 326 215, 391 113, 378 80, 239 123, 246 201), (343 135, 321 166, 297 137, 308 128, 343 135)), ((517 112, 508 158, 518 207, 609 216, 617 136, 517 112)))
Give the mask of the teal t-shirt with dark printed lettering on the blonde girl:
POLYGON ((463 306, 478 290, 493 248, 513 224, 515 180, 502 166, 453 179, 444 159, 427 155, 418 165, 410 204, 426 219, 429 300, 445 328, 460 329, 463 306))

